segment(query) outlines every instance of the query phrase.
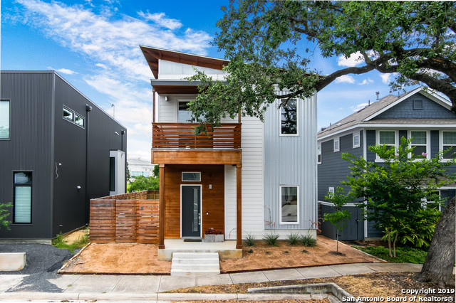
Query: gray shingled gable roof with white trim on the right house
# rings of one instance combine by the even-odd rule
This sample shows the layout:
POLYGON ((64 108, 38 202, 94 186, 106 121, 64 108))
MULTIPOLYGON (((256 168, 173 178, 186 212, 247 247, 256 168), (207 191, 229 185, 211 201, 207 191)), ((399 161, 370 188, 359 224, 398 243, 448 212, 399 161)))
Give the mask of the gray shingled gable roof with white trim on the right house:
POLYGON ((447 108, 447 110, 450 110, 451 108, 451 103, 445 100, 445 98, 440 97, 440 95, 437 95, 435 93, 425 92, 422 87, 418 87, 415 88, 415 90, 410 90, 409 92, 405 92, 402 95, 388 95, 381 98, 377 102, 373 102, 371 105, 358 110, 358 112, 355 112, 352 115, 349 115, 348 117, 345 117, 340 121, 332 124, 330 127, 326 127, 326 129, 323 129, 321 132, 318 132, 318 139, 329 137, 332 134, 342 132, 344 129, 351 129, 361 125, 369 124, 455 124, 455 120, 453 119, 374 119, 381 113, 389 110, 391 107, 398 105, 400 102, 403 102, 408 97, 417 93, 425 95, 425 97, 428 97, 430 100, 436 102, 442 107, 447 108))

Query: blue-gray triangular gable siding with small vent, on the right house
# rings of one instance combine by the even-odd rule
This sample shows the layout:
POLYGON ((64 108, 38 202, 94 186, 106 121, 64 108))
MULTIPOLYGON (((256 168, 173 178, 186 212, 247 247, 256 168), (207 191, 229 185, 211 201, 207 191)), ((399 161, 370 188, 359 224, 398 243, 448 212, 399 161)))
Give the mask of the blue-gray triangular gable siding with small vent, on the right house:
POLYGON ((437 118, 437 119, 454 119, 455 115, 449 110, 436 102, 430 100, 421 94, 415 94, 400 102, 398 105, 391 107, 389 110, 382 112, 375 119, 385 118, 437 118), (423 110, 413 110, 413 100, 423 101, 423 110))

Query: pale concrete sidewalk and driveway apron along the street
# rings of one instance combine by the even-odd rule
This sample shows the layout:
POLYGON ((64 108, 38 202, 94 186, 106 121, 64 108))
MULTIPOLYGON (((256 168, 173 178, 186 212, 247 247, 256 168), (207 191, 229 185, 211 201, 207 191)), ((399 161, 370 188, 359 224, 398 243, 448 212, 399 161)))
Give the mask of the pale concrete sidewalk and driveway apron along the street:
POLYGON ((20 285, 26 275, 0 275, 0 300, 96 299, 122 301, 147 300, 153 302, 192 299, 311 299, 309 294, 162 294, 161 292, 201 285, 231 285, 249 282, 335 277, 370 272, 419 272, 420 270, 421 265, 418 264, 356 263, 224 275, 62 275, 57 279, 48 280, 48 282, 61 289, 61 292, 21 292, 20 285))

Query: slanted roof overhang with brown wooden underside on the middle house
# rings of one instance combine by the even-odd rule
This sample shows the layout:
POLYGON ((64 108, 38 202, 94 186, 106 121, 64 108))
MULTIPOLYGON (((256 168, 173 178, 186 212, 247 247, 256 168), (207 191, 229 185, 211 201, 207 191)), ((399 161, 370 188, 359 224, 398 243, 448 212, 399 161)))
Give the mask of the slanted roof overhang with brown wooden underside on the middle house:
POLYGON ((203 68, 213 68, 214 70, 222 70, 222 68, 229 63, 229 60, 207 57, 205 55, 193 55, 175 50, 153 48, 151 46, 140 46, 140 48, 155 79, 158 79, 158 60, 168 60, 175 63, 201 66, 203 68))

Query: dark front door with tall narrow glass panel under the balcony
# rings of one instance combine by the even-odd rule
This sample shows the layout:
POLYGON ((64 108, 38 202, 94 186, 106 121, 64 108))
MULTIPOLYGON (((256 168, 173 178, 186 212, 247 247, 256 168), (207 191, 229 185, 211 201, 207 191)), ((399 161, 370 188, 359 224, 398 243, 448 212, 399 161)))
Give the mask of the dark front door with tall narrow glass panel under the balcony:
POLYGON ((181 235, 182 237, 201 237, 201 186, 181 186, 181 235))

